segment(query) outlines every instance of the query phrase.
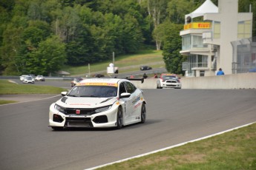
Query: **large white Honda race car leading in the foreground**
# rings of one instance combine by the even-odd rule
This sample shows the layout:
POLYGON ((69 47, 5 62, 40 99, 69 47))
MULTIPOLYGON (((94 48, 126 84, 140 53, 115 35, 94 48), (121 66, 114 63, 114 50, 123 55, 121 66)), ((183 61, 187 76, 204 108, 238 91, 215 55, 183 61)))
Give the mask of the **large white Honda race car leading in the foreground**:
POLYGON ((50 105, 49 126, 116 127, 144 123, 146 101, 131 81, 119 78, 91 78, 80 81, 70 92, 50 105))

